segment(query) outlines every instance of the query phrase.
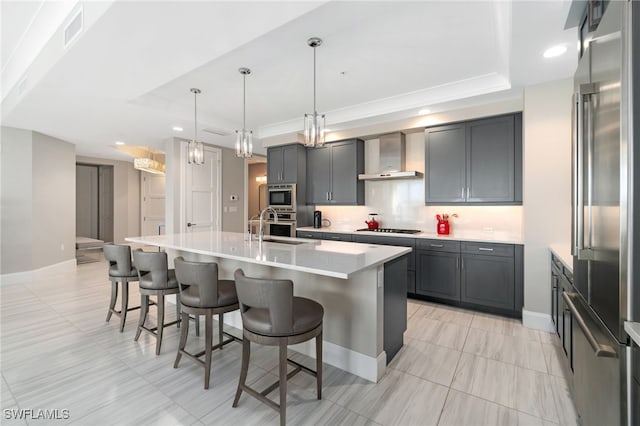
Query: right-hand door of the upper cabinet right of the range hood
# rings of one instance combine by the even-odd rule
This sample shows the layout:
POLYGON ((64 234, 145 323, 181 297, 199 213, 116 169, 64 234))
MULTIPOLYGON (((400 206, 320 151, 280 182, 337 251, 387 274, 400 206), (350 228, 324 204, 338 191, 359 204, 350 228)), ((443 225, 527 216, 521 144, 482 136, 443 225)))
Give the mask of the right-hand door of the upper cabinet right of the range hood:
POLYGON ((467 202, 513 202, 514 116, 472 121, 467 137, 467 202))

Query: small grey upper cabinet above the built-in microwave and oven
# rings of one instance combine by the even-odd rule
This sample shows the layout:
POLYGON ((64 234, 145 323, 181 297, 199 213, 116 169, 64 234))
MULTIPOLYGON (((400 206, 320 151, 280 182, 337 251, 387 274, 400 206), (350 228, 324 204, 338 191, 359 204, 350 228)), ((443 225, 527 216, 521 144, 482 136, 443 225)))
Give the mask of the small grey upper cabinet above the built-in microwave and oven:
POLYGON ((267 149, 267 183, 305 184, 306 151, 299 143, 267 149))

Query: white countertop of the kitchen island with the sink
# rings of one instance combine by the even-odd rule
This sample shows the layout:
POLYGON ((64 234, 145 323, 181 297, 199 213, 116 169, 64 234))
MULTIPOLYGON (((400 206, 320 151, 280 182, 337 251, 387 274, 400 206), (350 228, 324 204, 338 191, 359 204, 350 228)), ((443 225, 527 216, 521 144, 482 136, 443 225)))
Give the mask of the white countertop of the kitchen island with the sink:
POLYGON ((302 238, 269 238, 298 241, 303 244, 267 241, 260 244, 257 239, 249 242, 247 233, 236 232, 190 232, 128 237, 125 240, 341 279, 348 279, 355 272, 376 267, 411 252, 407 247, 302 238))

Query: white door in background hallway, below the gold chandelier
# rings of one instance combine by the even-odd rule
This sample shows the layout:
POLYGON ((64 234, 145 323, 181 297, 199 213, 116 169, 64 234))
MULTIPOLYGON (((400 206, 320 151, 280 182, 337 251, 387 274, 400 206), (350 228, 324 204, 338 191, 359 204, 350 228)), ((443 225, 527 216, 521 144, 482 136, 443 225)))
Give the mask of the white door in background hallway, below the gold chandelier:
POLYGON ((142 235, 164 234, 165 177, 142 173, 142 235))

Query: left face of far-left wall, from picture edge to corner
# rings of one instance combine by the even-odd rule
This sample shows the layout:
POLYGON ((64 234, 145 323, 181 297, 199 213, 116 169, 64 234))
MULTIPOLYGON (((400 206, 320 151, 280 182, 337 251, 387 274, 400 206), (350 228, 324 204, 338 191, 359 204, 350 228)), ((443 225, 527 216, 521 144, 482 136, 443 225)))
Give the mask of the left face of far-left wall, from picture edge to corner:
POLYGON ((2 127, 0 172, 2 173, 1 271, 31 270, 32 242, 32 133, 2 127))

